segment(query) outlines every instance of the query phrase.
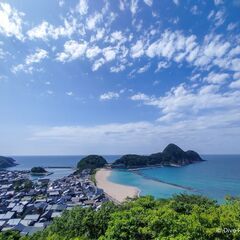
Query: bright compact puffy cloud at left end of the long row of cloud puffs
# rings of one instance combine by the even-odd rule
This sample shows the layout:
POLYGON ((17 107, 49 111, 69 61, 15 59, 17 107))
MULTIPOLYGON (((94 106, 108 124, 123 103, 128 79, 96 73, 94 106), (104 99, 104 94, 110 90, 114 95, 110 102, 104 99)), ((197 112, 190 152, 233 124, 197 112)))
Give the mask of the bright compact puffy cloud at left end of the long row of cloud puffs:
POLYGON ((85 41, 77 42, 69 40, 64 44, 64 51, 57 54, 56 59, 60 62, 68 62, 82 57, 87 49, 85 41))

